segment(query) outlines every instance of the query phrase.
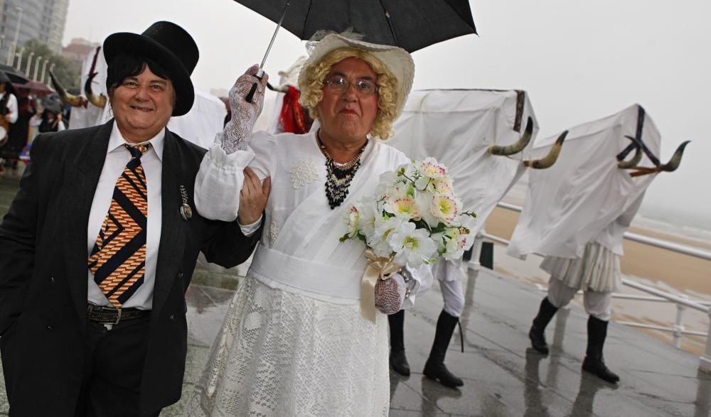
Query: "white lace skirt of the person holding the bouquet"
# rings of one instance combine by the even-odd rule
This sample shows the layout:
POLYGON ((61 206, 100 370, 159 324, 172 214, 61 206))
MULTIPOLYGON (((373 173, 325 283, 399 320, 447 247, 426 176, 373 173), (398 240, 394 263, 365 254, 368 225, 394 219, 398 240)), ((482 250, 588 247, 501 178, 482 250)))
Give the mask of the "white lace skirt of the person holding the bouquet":
POLYGON ((247 279, 185 415, 387 416, 387 349, 385 315, 247 279))

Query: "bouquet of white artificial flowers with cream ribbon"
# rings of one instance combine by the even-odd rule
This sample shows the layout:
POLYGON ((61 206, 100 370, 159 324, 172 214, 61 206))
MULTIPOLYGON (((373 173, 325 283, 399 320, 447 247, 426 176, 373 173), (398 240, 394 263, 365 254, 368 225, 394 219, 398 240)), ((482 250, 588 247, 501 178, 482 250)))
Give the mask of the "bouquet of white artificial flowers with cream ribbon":
POLYGON ((365 304, 372 304, 378 278, 387 279, 405 265, 459 258, 474 243, 469 227, 474 217, 474 212, 462 211, 447 168, 434 158, 380 175, 375 196, 351 206, 348 232, 341 237, 341 242, 360 239, 367 248, 361 311, 372 313, 363 315, 375 319, 375 311, 365 304))

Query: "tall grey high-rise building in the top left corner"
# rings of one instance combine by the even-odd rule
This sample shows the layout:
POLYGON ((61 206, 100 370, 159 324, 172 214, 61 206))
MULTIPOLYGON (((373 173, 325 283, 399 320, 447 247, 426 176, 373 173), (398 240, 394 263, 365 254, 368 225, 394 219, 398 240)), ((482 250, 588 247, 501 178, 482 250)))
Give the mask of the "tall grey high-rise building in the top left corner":
POLYGON ((15 39, 16 50, 36 39, 61 53, 68 8, 69 0, 0 0, 0 63, 9 62, 15 39))

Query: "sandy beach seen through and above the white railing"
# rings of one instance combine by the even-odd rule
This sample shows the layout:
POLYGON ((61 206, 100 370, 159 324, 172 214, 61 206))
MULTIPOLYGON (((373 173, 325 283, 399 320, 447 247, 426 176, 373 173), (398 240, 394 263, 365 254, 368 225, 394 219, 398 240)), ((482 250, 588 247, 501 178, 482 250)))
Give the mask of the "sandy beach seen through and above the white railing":
MULTIPOLYGON (((507 200, 512 204, 520 204, 518 199, 507 200)), ((486 220, 486 232, 504 239, 510 239, 516 222, 518 212, 497 207, 486 220)), ((634 225, 634 222, 633 222, 634 225)), ((711 251, 711 242, 697 239, 688 239, 674 234, 656 232, 641 227, 630 227, 630 232, 643 234, 648 237, 667 240, 711 251)), ((668 293, 688 296, 692 300, 711 302, 711 261, 686 256, 664 249, 658 249, 646 244, 624 242, 624 256, 621 258, 621 269, 625 278, 652 286, 668 293)), ((528 256, 525 261, 513 259, 506 255, 506 247, 497 244, 494 250, 494 269, 513 276, 531 286, 539 284, 547 286, 548 274, 538 269, 541 258, 528 256)), ((621 293, 646 295, 629 286, 624 286, 621 293)), ((543 293, 541 293, 543 294, 543 293)), ((577 297, 576 302, 582 305, 582 297, 577 297)), ((660 303, 645 300, 613 300, 613 320, 640 322, 649 325, 673 327, 676 306, 673 303, 660 303)), ((532 318, 533 319, 533 318, 532 318)), ((685 330, 707 332, 709 318, 705 313, 687 308, 683 314, 685 330)), ((638 327, 631 331, 647 332, 653 337, 671 343, 670 332, 656 330, 642 330, 638 327)), ((682 349, 694 354, 702 354, 705 348, 705 338, 696 336, 683 337, 682 349)))

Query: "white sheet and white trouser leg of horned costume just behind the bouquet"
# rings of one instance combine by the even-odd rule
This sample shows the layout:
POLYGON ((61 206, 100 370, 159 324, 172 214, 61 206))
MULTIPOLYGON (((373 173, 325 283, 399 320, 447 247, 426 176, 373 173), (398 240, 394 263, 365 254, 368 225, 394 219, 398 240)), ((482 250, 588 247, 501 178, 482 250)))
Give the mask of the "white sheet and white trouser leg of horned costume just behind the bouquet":
MULTIPOLYGON (((402 115, 395 122, 395 134, 388 143, 407 156, 427 156, 444 163, 454 180, 464 210, 476 212, 472 234, 486 223, 486 217, 525 172, 538 133, 528 94, 515 90, 415 90, 410 93, 402 115), (491 145, 506 146, 520 138, 528 117, 534 129, 529 145, 510 157, 488 153, 491 145)), ((466 266, 461 259, 432 267, 439 280, 444 310, 459 317, 464 308, 461 281, 466 266)))

